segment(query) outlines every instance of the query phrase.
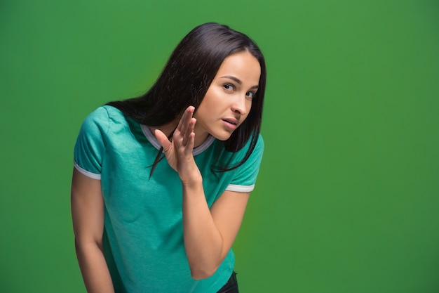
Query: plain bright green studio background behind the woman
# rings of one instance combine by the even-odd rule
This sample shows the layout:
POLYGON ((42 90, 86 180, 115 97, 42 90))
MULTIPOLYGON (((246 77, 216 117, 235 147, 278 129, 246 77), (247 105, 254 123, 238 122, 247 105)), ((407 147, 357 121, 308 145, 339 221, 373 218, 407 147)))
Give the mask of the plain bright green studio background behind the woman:
POLYGON ((439 291, 438 1, 0 2, 0 292, 85 292, 69 214, 89 112, 192 27, 249 34, 269 80, 241 292, 439 291))

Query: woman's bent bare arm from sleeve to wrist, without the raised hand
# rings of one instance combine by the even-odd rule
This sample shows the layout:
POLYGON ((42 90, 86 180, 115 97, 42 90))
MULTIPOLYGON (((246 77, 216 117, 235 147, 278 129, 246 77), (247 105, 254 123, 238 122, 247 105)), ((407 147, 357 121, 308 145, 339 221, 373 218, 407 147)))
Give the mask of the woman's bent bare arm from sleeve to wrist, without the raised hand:
POLYGON ((184 247, 193 278, 213 275, 233 244, 249 193, 225 191, 209 210, 203 186, 183 186, 184 247))

